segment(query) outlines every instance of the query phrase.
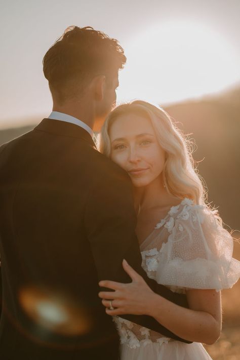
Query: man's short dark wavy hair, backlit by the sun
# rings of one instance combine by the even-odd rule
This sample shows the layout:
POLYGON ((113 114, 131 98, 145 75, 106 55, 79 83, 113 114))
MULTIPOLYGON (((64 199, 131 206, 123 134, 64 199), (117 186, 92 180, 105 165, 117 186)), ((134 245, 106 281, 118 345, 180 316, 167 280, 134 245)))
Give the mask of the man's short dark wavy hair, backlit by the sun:
POLYGON ((44 75, 57 101, 84 91, 91 79, 106 75, 109 83, 126 63, 123 48, 116 39, 87 26, 70 26, 43 59, 44 75))

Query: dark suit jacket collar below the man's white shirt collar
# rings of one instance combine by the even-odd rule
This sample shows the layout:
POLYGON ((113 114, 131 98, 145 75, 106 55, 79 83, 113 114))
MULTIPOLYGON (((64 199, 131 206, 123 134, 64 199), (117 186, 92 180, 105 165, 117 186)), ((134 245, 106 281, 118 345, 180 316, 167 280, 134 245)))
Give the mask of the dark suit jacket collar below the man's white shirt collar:
POLYGON ((44 118, 34 129, 55 135, 83 139, 96 147, 91 135, 85 129, 75 124, 44 118))

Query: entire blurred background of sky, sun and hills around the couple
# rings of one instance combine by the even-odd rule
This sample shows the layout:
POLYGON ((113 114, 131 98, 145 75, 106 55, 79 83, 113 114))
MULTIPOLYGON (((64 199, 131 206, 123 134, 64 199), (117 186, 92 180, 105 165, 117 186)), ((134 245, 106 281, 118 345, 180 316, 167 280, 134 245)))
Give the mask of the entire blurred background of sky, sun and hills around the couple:
MULTIPOLYGON (((240 2, 238 0, 0 0, 0 145, 52 110, 42 59, 70 25, 117 38, 127 64, 117 101, 163 106, 195 143, 193 157, 226 228, 240 238, 240 2)), ((234 242, 240 260, 240 244, 234 242)), ((214 360, 240 359, 240 282, 223 291, 214 360)))

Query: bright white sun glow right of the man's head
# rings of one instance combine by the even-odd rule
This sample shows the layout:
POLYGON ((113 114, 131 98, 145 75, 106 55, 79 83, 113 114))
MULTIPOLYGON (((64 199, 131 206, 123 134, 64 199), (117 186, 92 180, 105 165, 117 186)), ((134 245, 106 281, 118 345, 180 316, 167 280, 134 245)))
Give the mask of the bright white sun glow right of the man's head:
POLYGON ((166 22, 125 45, 117 101, 140 98, 168 103, 214 93, 240 78, 239 54, 204 24, 166 22))

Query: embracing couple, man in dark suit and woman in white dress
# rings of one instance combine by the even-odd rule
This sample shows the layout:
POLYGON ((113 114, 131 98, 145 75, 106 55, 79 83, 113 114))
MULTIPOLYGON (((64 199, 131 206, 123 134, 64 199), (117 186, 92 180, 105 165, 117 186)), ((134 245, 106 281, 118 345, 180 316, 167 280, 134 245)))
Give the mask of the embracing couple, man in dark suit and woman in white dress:
POLYGON ((1 359, 211 359, 233 241, 168 113, 112 110, 125 62, 68 28, 43 60, 53 112, 0 148, 1 359))

